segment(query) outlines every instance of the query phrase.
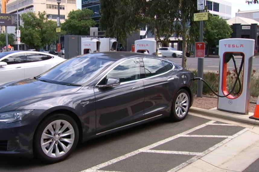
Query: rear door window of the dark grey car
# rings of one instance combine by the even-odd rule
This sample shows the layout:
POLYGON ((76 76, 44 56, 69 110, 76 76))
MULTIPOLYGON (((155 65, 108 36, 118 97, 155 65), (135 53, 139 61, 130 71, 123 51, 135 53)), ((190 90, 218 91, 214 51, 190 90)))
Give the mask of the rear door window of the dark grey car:
POLYGON ((166 72, 166 68, 161 60, 155 58, 143 58, 146 77, 152 77, 166 72))

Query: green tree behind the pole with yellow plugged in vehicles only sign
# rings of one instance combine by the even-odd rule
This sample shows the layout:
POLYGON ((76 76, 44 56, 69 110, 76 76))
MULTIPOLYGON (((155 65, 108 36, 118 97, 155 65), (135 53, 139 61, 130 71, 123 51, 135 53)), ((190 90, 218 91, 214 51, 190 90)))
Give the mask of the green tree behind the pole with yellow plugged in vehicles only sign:
POLYGON ((209 14, 209 20, 204 25, 203 36, 207 45, 208 57, 209 47, 216 46, 220 39, 230 38, 233 31, 226 20, 212 14, 209 14))

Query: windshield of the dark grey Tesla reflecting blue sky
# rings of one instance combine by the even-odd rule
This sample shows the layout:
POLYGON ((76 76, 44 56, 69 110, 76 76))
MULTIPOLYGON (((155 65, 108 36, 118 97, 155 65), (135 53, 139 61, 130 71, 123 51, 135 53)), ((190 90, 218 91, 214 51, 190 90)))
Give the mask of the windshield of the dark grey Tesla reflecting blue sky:
POLYGON ((63 85, 82 85, 97 77, 113 62, 106 58, 76 57, 43 73, 37 80, 63 85))

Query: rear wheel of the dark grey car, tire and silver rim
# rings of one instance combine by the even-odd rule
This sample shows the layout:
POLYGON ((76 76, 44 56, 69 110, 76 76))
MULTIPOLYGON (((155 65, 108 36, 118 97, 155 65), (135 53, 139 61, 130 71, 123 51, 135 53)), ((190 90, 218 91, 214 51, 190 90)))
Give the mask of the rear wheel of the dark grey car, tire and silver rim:
POLYGON ((181 121, 183 120, 190 108, 190 95, 185 89, 180 89, 172 102, 171 109, 171 120, 173 121, 181 121))

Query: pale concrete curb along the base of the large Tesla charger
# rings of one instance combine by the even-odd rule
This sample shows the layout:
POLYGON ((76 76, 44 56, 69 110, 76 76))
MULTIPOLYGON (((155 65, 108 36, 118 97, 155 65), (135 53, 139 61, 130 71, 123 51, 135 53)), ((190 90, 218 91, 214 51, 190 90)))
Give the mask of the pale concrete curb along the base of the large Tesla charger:
POLYGON ((259 120, 253 120, 249 118, 249 116, 253 115, 253 113, 249 113, 248 115, 242 115, 242 114, 234 114, 234 113, 219 111, 219 110, 216 110, 215 108, 207 110, 207 109, 196 108, 196 107, 190 107, 189 112, 259 126, 259 120))

